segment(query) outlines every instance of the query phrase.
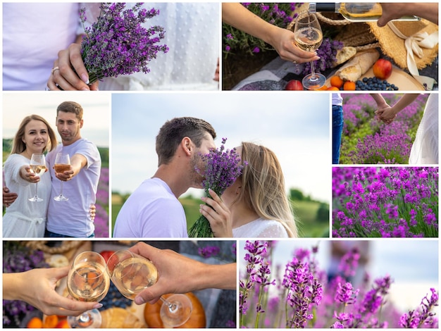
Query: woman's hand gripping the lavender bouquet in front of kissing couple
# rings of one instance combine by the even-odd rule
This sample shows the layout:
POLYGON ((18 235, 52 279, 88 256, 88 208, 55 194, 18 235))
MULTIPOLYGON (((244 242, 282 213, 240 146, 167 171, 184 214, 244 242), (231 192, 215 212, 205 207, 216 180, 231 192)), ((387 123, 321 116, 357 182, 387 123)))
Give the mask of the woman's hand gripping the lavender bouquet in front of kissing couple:
POLYGON ((201 204, 199 212, 209 220, 214 237, 232 238, 230 209, 225 206, 222 199, 212 189, 209 189, 209 194, 213 199, 203 196, 201 200, 209 206, 201 204))

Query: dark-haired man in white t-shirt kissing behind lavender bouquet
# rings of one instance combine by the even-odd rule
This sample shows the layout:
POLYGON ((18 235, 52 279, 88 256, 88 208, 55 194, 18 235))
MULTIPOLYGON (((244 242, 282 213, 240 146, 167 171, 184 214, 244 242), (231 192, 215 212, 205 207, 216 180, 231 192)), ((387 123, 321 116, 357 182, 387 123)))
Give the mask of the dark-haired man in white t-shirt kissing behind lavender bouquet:
POLYGON ((182 117, 168 120, 156 137, 159 167, 123 204, 113 237, 182 238, 187 220, 179 196, 190 187, 202 188, 201 155, 216 148, 216 132, 205 120, 182 117))

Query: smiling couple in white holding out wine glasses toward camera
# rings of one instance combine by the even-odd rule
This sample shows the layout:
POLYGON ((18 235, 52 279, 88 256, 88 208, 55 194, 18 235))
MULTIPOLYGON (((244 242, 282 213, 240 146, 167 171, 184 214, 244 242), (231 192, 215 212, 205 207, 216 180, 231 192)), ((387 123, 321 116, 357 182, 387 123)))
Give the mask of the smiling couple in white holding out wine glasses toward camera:
POLYGON ((93 237, 101 157, 80 135, 82 115, 73 101, 58 106, 62 144, 41 116, 23 119, 4 164, 4 237, 93 237))

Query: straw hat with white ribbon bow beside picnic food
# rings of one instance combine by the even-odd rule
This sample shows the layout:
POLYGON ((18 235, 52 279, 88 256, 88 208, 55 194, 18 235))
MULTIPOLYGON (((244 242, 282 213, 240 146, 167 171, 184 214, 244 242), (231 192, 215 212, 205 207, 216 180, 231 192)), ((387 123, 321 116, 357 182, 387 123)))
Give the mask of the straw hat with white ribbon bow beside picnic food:
POLYGON ((418 70, 430 65, 437 57, 438 26, 428 20, 394 21, 389 22, 385 27, 378 27, 376 22, 368 22, 368 25, 378 39, 383 54, 392 58, 402 69, 411 69, 408 63, 408 52, 409 56, 414 58, 414 67, 418 70), (407 51, 406 44, 408 44, 407 49, 413 48, 414 51, 407 51))

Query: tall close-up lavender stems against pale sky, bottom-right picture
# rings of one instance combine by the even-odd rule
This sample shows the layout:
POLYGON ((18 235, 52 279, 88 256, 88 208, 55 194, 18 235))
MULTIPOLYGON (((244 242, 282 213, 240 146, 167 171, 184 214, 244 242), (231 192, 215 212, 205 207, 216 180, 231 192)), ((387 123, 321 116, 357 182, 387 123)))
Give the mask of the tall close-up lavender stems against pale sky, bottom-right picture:
MULTIPOLYGON (((438 327, 435 286, 429 285, 414 299, 411 307, 401 309, 390 296, 395 285, 394 275, 386 273, 373 278, 366 270, 363 281, 356 284, 352 277, 361 264, 356 245, 337 262, 340 273, 330 277, 318 260, 323 249, 321 242, 313 246, 297 243, 297 248, 292 242, 247 241, 242 244, 240 327, 438 327), (284 251, 294 250, 284 261, 280 261, 280 254, 277 254, 280 253, 279 245, 283 245, 284 251)), ((399 262, 391 260, 389 263, 399 262)), ((414 289, 407 290, 410 293, 414 289)))

